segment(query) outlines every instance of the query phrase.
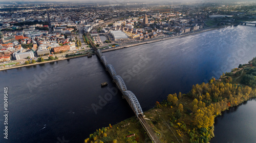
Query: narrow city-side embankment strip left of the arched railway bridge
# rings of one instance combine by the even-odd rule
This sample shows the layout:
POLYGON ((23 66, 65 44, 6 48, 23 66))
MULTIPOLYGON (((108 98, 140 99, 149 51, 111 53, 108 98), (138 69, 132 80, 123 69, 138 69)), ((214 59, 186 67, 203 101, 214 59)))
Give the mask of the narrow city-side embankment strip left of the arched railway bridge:
MULTIPOLYGON (((90 53, 90 54, 95 54, 95 53, 90 53)), ((57 61, 68 60, 68 59, 74 59, 74 58, 79 58, 79 57, 87 56, 87 55, 88 54, 82 54, 82 55, 71 56, 71 57, 68 57, 68 58, 65 57, 65 58, 61 58, 61 59, 57 59, 57 60, 52 60, 52 61, 36 62, 34 64, 31 63, 31 64, 26 64, 26 65, 6 67, 6 68, 1 68, 0 71, 9 70, 9 69, 15 69, 15 68, 28 67, 28 66, 34 66, 34 65, 45 64, 45 63, 51 63, 51 62, 57 62, 57 61)))

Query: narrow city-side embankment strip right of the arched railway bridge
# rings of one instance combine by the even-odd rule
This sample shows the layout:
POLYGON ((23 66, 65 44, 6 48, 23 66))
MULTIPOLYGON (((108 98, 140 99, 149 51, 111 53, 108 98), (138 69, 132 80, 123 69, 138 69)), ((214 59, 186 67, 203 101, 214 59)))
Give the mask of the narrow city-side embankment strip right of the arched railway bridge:
POLYGON ((120 46, 120 47, 114 47, 114 48, 109 48, 109 49, 103 49, 103 50, 101 50, 101 51, 102 51, 102 52, 108 52, 108 51, 118 50, 118 49, 122 49, 122 48, 134 47, 134 46, 143 45, 143 44, 150 44, 150 43, 154 43, 154 42, 160 42, 160 41, 164 41, 164 40, 170 40, 170 39, 185 37, 185 36, 189 36, 189 35, 199 34, 199 33, 203 33, 203 32, 218 30, 218 29, 220 29, 220 28, 225 28, 225 27, 227 27, 227 26, 209 28, 209 29, 205 29, 205 30, 198 31, 198 32, 193 32, 193 33, 184 34, 184 35, 175 36, 175 37, 155 38, 155 39, 150 39, 150 40, 146 40, 146 41, 140 41, 140 42, 137 42, 137 43, 135 43, 135 44, 126 44, 126 45, 122 45, 122 46, 120 46))

